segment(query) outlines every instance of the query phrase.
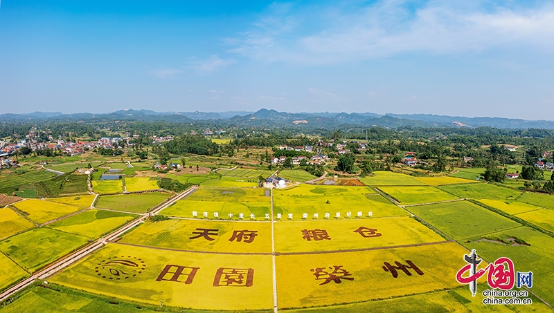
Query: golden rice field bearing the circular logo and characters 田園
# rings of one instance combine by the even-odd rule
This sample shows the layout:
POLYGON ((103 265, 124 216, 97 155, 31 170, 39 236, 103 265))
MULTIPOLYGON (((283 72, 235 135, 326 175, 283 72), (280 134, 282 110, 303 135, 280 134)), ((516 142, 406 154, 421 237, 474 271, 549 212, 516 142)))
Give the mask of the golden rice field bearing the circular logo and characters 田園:
POLYGON ((154 305, 163 301, 164 305, 207 310, 263 310, 273 307, 271 273, 271 256, 170 252, 112 244, 50 281, 154 305), (110 260, 120 263, 102 268, 110 260), (179 267, 182 269, 175 276, 179 267), (193 271, 195 275, 190 277, 193 271), (233 281, 238 275, 244 279, 233 281))

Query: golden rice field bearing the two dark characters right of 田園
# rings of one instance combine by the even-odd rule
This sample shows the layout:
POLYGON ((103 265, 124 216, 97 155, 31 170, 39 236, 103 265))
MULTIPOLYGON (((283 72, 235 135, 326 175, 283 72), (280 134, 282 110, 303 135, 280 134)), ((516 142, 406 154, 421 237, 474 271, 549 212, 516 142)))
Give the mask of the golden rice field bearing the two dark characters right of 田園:
POLYGON ((278 306, 333 305, 458 287, 452 277, 465 265, 460 257, 465 253, 456 243, 442 243, 368 252, 277 256, 278 306), (401 271, 394 278, 383 269, 385 262, 409 265, 407 260, 422 274, 409 269, 411 276, 401 271), (325 283, 329 277, 325 272, 337 272, 344 278, 340 283, 325 283))

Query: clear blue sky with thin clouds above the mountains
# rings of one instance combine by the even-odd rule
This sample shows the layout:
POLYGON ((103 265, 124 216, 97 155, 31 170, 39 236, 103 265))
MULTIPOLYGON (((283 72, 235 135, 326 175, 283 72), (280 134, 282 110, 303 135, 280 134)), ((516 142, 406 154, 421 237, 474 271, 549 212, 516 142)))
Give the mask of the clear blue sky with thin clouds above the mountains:
POLYGON ((554 120, 554 2, 3 0, 0 104, 554 120))

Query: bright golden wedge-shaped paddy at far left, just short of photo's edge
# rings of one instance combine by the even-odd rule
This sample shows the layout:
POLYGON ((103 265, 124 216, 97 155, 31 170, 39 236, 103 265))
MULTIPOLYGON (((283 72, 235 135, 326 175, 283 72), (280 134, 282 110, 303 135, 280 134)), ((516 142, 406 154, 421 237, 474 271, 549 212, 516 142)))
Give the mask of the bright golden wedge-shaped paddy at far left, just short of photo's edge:
POLYGON ((46 200, 28 199, 12 205, 28 219, 41 224, 80 211, 82 208, 46 200))

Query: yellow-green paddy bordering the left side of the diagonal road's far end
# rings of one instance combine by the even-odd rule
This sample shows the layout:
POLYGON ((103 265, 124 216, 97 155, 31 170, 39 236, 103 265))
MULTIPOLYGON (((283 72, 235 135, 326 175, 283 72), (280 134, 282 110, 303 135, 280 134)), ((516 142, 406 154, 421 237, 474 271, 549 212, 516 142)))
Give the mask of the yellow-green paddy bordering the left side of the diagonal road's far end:
POLYGON ((100 196, 96 207, 115 211, 142 214, 159 205, 171 195, 162 192, 129 193, 125 195, 100 196))

